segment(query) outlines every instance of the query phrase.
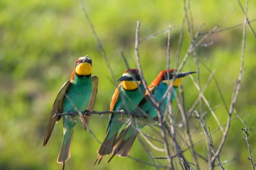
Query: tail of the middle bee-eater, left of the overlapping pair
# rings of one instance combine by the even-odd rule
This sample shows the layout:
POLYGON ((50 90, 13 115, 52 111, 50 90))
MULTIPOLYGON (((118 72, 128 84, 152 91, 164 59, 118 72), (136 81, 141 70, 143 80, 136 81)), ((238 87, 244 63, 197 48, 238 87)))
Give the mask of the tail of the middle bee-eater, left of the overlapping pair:
POLYGON ((106 134, 105 136, 105 139, 104 141, 102 142, 102 144, 100 145, 97 153, 98 153, 98 157, 94 163, 94 165, 96 164, 96 162, 98 161, 99 159, 99 162, 98 164, 100 163, 100 161, 102 160, 102 157, 103 156, 107 156, 109 154, 111 154, 112 150, 113 150, 113 145, 114 145, 114 142, 115 142, 115 139, 116 139, 116 136, 117 136, 117 133, 115 133, 111 139, 108 139, 108 135, 110 133, 110 130, 108 130, 108 133, 106 134))

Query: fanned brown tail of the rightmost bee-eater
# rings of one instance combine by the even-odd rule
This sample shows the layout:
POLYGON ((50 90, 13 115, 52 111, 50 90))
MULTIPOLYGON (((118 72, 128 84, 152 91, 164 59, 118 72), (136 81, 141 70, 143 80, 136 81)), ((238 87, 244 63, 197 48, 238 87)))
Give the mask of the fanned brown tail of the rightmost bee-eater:
POLYGON ((129 156, 129 154, 131 152, 131 147, 132 147, 132 145, 134 143, 134 140, 136 139, 138 134, 139 134, 139 132, 137 130, 134 130, 134 128, 131 127, 131 125, 126 127, 124 130, 122 130, 122 132, 119 134, 119 136, 115 140, 115 143, 114 143, 114 146, 113 146, 113 151, 112 151, 112 156, 108 160, 108 162, 110 162, 111 159, 115 155, 118 155, 120 157, 129 156), (129 135, 130 137, 127 138, 126 136, 129 133, 131 134, 131 131, 132 131, 132 135, 131 136, 129 135))

